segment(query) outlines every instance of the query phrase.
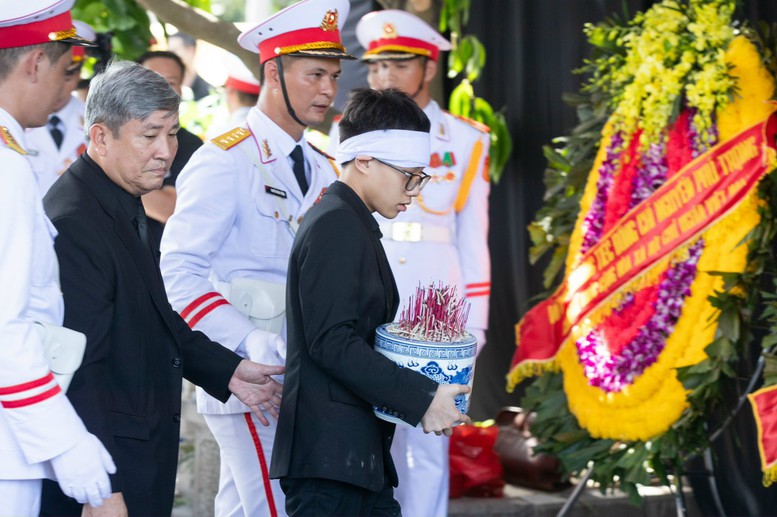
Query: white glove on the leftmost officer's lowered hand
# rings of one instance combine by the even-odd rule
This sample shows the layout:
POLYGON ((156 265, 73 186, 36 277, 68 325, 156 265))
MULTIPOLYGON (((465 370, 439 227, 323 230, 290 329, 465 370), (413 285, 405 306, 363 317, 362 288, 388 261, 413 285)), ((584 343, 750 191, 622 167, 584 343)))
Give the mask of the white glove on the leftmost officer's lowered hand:
POLYGON ((51 468, 62 492, 81 504, 100 506, 111 496, 108 474, 116 473, 113 458, 93 434, 51 458, 51 468))

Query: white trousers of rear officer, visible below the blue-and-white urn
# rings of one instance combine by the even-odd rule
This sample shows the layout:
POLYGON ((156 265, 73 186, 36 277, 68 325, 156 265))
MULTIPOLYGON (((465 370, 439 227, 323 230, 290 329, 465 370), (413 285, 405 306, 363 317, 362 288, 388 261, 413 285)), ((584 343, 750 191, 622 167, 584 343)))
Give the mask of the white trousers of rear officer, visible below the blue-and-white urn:
POLYGON ((423 429, 398 425, 391 444, 399 486, 394 498, 402 517, 446 517, 450 484, 450 439, 423 429))

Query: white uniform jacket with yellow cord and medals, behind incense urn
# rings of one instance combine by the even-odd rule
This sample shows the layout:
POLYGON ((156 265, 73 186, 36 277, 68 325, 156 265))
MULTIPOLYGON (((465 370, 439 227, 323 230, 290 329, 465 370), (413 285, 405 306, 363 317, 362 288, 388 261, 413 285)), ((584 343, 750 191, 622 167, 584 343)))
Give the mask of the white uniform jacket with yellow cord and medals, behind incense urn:
POLYGON ((400 295, 400 311, 419 285, 456 286, 472 304, 467 327, 488 327, 491 259, 488 250, 488 150, 485 126, 440 109, 424 112, 432 123, 429 184, 409 209, 389 220, 376 215, 400 295))

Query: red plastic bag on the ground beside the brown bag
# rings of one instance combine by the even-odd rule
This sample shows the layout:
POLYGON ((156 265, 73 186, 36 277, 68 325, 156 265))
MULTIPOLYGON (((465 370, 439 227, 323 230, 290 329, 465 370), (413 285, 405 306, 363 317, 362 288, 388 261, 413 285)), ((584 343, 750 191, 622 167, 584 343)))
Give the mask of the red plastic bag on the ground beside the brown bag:
POLYGON ((494 452, 499 428, 460 425, 450 445, 450 497, 502 497, 502 462, 494 452))

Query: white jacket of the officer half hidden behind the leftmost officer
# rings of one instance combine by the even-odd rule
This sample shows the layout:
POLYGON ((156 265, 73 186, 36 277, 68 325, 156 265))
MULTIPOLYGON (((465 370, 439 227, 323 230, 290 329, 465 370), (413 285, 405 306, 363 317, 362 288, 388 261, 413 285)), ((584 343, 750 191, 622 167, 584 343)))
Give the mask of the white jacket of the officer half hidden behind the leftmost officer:
POLYGON ((46 195, 59 175, 86 151, 84 109, 81 99, 71 95, 65 107, 52 114, 61 120, 59 127, 63 131, 63 138, 62 147, 59 149, 51 137, 48 126, 27 130, 28 156, 32 163, 32 170, 38 178, 41 196, 46 195))

